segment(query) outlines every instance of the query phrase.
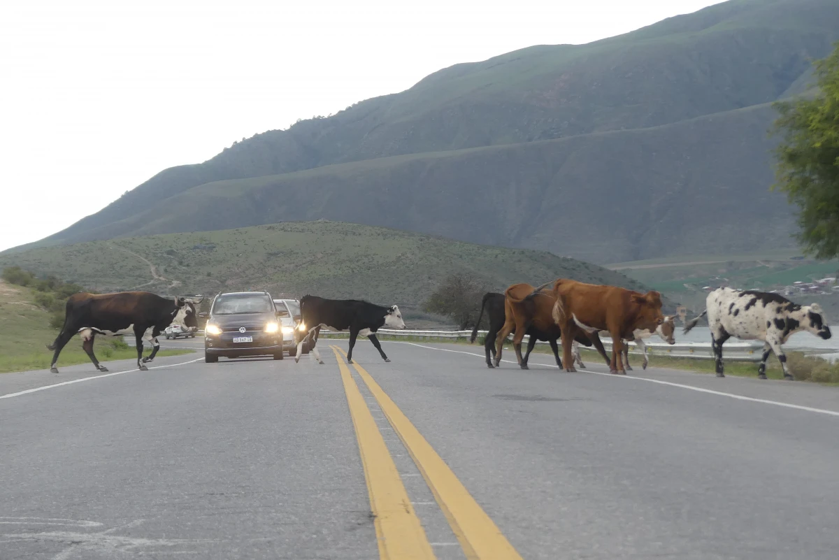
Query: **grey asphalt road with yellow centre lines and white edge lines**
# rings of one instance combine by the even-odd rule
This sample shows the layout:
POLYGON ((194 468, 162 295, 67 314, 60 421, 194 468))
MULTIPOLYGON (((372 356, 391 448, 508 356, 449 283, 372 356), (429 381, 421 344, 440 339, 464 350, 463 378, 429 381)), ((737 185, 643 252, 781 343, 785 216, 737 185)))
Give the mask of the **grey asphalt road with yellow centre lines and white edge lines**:
POLYGON ((329 345, 0 375, 0 559, 837 557, 837 388, 329 345))

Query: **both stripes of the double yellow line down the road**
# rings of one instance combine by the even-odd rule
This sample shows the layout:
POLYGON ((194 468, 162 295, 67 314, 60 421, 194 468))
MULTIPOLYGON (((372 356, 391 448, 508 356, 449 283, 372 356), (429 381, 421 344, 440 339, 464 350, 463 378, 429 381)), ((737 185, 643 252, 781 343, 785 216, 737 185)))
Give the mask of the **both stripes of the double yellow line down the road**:
MULTIPOLYGON (((338 360, 352 423, 356 429, 370 506, 375 516, 379 557, 383 560, 433 559, 434 551, 428 537, 425 536, 419 517, 411 506, 402 477, 399 476, 373 415, 344 361, 346 355, 337 346, 333 345, 331 349, 338 360)), ((414 428, 414 424, 399 410, 382 387, 378 386, 364 368, 356 363, 352 366, 373 393, 393 431, 402 440, 405 449, 408 449, 408 453, 420 469, 440 510, 446 515, 451 530, 461 543, 466 557, 469 560, 522 560, 519 552, 516 552, 513 545, 503 536, 498 526, 481 506, 477 505, 446 462, 419 430, 414 428)))

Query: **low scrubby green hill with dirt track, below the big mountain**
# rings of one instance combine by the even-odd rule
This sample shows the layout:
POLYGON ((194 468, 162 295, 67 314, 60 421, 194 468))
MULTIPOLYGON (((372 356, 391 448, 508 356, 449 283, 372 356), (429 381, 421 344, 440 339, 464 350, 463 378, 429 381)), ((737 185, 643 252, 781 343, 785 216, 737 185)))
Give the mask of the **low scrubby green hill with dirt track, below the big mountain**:
POLYGON ((60 274, 103 292, 268 289, 274 297, 312 293, 408 307, 424 303, 450 272, 470 273, 499 291, 557 277, 645 290, 619 272, 545 251, 327 221, 39 247, 0 255, 0 267, 8 265, 60 274))

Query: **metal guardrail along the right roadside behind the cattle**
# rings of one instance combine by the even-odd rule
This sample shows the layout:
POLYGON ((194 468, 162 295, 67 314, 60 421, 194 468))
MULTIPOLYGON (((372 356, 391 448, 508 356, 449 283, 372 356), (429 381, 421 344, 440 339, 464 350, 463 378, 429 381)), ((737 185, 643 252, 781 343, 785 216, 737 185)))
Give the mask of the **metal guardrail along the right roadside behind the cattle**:
MULTIPOLYGON (((477 331, 478 336, 486 335, 487 330, 477 331)), ((388 336, 393 338, 418 338, 420 340, 468 340, 472 335, 471 330, 393 330, 393 329, 378 329, 376 333, 379 336, 388 336)), ((325 329, 320 330, 320 336, 331 339, 348 339, 349 332, 336 333, 325 329)), ((513 340, 513 334, 507 337, 507 340, 513 340)), ((527 345, 529 336, 524 335, 523 344, 527 345)), ((612 340, 606 337, 601 337, 603 348, 607 352, 612 351, 612 340)), ((669 345, 666 342, 654 337, 647 339, 644 345, 647 347, 647 355, 652 357, 656 355, 665 355, 673 358, 689 358, 710 360, 714 357, 711 351, 710 342, 677 342, 675 345, 669 345)), ((475 341, 477 344, 477 340, 475 341)), ((547 342, 541 340, 536 341, 537 345, 546 345, 547 342)), ((625 343, 629 345, 629 353, 633 355, 641 355, 638 350, 638 345, 634 342, 625 343)), ((586 348, 581 346, 581 350, 594 350, 593 347, 586 348)), ((729 340, 724 346, 723 358, 728 361, 760 361, 763 355, 763 342, 755 340, 733 341, 729 340)))

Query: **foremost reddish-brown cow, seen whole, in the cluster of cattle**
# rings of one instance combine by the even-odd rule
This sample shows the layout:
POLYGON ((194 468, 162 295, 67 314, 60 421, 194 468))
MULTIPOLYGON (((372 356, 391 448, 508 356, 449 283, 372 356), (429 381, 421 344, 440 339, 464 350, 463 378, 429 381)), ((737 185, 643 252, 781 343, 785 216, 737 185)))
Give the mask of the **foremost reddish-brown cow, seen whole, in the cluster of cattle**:
POLYGON ((552 318, 562 333, 562 359, 565 371, 576 371, 571 362, 571 341, 582 330, 612 335, 609 371, 626 375, 623 369, 623 339, 633 340, 635 329, 655 330, 664 322, 661 294, 653 290, 639 293, 618 286, 588 284, 560 278, 554 283, 552 318))

